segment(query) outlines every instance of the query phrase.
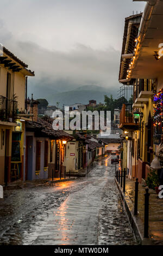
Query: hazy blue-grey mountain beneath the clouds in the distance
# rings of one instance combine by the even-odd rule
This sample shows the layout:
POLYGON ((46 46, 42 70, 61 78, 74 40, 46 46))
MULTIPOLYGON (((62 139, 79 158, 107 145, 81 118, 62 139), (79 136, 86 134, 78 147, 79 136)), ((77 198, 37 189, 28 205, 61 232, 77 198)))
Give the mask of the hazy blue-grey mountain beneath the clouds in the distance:
POLYGON ((59 102, 60 108, 62 105, 72 105, 74 103, 82 103, 82 104, 89 104, 89 100, 96 100, 98 103, 104 102, 104 95, 117 95, 117 90, 110 90, 106 89, 101 86, 95 85, 87 85, 87 86, 80 86, 76 90, 67 91, 67 92, 60 92, 49 94, 46 98, 49 102, 49 105, 57 105, 59 102))

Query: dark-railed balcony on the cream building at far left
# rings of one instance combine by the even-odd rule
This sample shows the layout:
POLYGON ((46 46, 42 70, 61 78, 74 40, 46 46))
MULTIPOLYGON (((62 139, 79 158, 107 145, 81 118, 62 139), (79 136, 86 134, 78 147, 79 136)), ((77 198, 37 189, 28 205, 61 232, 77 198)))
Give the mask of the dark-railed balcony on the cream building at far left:
POLYGON ((0 96, 0 121, 14 123, 17 118, 17 102, 0 96))

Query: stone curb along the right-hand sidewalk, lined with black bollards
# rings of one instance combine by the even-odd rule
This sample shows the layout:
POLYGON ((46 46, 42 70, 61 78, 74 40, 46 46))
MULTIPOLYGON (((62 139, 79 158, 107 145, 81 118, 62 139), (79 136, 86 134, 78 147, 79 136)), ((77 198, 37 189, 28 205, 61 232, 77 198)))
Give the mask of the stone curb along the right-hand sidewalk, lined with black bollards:
POLYGON ((143 237, 143 222, 140 219, 139 215, 135 216, 134 215, 134 204, 131 201, 131 199, 129 198, 129 196, 127 195, 127 193, 122 192, 120 185, 118 184, 116 178, 115 178, 115 182, 117 184, 117 188, 120 192, 120 196, 121 196, 121 201, 123 204, 123 208, 126 211, 127 217, 128 217, 128 221, 131 225, 131 228, 134 231, 136 240, 141 244, 141 245, 153 245, 152 240, 149 238, 145 238, 143 237))

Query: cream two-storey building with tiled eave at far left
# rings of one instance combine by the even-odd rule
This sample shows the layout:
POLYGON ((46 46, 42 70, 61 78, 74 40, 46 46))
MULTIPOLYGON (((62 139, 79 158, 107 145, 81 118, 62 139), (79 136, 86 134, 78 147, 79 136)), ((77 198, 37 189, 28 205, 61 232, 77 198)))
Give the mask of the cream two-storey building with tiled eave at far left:
POLYGON ((34 72, 3 47, 0 56, 0 184, 21 178, 27 114, 27 76, 34 72))

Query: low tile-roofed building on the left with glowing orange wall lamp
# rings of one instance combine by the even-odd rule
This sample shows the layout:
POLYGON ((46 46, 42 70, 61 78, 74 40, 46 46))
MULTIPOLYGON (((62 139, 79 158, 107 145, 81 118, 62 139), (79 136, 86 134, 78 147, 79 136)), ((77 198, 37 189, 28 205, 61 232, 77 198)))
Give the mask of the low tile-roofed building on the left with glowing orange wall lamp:
POLYGON ((27 102, 33 120, 26 123, 26 180, 63 177, 66 166, 66 143, 72 136, 62 130, 54 130, 51 118, 38 118, 39 102, 27 102))

